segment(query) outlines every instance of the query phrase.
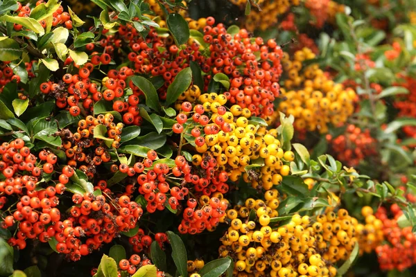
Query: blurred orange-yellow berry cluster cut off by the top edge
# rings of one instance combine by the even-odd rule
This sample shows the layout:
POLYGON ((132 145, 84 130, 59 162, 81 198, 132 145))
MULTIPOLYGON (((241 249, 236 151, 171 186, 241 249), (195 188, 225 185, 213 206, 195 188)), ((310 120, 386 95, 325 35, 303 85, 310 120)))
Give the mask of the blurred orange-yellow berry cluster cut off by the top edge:
MULTIPOLYGON (((232 0, 229 0, 232 1, 232 0)), ((232 1, 232 2, 244 2, 247 1, 232 1)), ((264 0, 259 1, 259 6, 261 10, 258 10, 256 7, 252 7, 250 15, 245 19, 245 28, 249 31, 254 29, 266 30, 271 26, 275 26, 278 21, 279 15, 283 15, 285 12, 291 8, 291 6, 298 6, 299 0, 264 0)))

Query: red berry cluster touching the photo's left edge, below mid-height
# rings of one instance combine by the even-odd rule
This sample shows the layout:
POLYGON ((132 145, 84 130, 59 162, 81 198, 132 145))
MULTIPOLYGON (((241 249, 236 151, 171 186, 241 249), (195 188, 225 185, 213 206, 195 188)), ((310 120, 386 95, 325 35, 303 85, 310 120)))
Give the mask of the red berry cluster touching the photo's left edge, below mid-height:
MULTIPOLYGON (((37 163, 35 155, 25 146, 22 139, 15 139, 10 143, 2 143, 0 146, 0 170, 5 177, 0 181, 0 209, 7 208, 2 213, 1 228, 7 229, 17 224, 16 236, 8 241, 19 249, 26 247, 26 239, 38 238, 46 242, 53 236, 53 226, 60 220, 60 211, 55 208, 59 204, 56 193, 62 193, 64 186, 57 184, 48 186, 42 190, 37 185, 42 172, 50 174, 58 158, 55 154, 46 151, 40 152, 40 163, 37 163), (19 197, 15 203, 11 196, 19 197), (9 215, 7 215, 9 214, 9 215)), ((66 174, 66 170, 62 174, 66 174)))

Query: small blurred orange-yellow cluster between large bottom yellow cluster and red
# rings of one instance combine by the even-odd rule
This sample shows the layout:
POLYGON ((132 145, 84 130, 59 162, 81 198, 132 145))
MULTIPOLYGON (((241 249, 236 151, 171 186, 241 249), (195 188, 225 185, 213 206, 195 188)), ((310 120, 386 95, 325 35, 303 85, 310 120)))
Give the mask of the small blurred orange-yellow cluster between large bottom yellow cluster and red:
POLYGON ((365 224, 358 224, 356 232, 360 245, 360 255, 363 255, 363 253, 374 251, 383 242, 384 235, 383 222, 375 217, 370 206, 361 208, 361 215, 365 218, 365 224))

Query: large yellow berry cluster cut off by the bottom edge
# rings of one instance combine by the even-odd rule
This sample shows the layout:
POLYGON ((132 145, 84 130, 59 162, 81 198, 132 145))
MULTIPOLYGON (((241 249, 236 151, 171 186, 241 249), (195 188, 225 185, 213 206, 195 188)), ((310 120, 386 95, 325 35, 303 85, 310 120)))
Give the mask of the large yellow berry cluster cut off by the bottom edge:
POLYGON ((233 258, 234 276, 336 276, 333 265, 347 259, 358 241, 357 220, 340 209, 315 220, 293 215, 291 222, 275 227, 278 197, 277 190, 267 190, 265 201, 247 199, 227 211, 229 228, 218 251, 233 258))

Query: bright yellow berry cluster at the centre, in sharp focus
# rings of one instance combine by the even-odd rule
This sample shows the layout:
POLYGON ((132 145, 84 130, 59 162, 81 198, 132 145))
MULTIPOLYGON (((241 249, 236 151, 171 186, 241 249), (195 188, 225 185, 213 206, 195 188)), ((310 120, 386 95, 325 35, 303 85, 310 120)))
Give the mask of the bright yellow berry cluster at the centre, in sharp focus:
MULTIPOLYGON (((192 89, 191 89, 192 90, 192 89)), ((189 96, 193 97, 193 96, 189 96)), ((198 100, 205 111, 211 112, 211 122, 219 116, 216 112, 220 105, 225 105, 225 96, 217 93, 204 93, 198 100)), ((229 172, 229 179, 237 181, 241 175, 254 188, 272 188, 280 184, 282 176, 289 174, 290 168, 283 164, 282 159, 293 161, 293 152, 284 152, 280 148, 276 129, 266 129, 249 123, 251 112, 233 105, 222 115, 225 123, 229 123, 230 131, 221 130, 218 134, 207 134, 205 143, 196 146, 200 154, 193 155, 193 165, 199 166, 207 156, 216 158, 219 170, 229 172), (245 167, 252 161, 260 159, 261 166, 245 172, 245 167)))

